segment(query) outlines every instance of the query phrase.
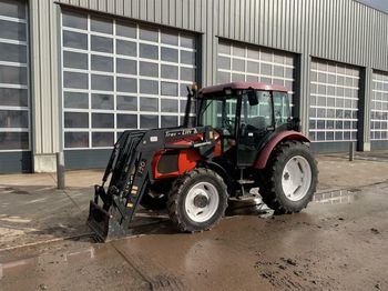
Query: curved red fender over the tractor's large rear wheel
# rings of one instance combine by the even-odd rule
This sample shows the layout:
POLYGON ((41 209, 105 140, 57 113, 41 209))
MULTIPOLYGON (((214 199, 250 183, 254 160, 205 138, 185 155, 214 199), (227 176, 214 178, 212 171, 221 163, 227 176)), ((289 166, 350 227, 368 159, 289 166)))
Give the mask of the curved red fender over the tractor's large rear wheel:
POLYGON ((254 167, 259 170, 265 169, 270 153, 273 152, 275 147, 284 140, 299 140, 299 141, 310 142, 310 140, 307 137, 305 137, 298 131, 294 131, 294 130, 282 131, 280 133, 272 138, 268 141, 268 143, 264 147, 264 149, 258 153, 254 167))

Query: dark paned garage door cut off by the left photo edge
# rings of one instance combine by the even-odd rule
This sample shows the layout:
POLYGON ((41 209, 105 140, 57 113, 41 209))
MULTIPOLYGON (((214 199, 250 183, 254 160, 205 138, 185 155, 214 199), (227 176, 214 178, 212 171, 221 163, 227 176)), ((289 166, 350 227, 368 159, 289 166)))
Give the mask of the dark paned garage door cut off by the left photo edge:
POLYGON ((0 172, 30 170, 25 1, 0 0, 0 172))

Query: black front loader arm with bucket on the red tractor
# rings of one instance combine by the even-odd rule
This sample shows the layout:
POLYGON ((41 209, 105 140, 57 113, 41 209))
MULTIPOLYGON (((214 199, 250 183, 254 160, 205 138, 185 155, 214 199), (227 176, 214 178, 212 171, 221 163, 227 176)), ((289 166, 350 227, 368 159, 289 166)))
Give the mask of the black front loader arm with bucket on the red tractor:
POLYGON ((89 227, 101 241, 131 233, 130 223, 139 203, 154 177, 152 161, 161 149, 198 149, 204 159, 214 149, 208 139, 211 128, 155 129, 124 131, 114 146, 101 185, 95 185, 94 200, 90 202, 89 227), (202 134, 198 142, 174 143, 174 139, 202 134), (109 180, 105 190, 104 183, 109 180), (100 199, 102 205, 99 204, 100 199))

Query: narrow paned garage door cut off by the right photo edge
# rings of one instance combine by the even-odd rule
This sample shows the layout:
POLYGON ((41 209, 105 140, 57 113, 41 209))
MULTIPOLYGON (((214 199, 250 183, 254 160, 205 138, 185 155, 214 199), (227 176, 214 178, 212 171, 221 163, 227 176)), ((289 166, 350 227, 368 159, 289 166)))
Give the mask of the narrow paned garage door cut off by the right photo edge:
POLYGON ((377 148, 388 148, 388 73, 374 72, 370 140, 377 148))

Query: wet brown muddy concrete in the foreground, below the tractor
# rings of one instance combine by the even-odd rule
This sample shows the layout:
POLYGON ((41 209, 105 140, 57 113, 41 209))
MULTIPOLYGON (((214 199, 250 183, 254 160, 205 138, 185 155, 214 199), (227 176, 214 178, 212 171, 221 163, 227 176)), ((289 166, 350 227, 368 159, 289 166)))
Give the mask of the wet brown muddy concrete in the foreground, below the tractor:
POLYGON ((212 231, 89 238, 0 252, 1 290, 387 290, 388 184, 319 198, 304 212, 238 208, 212 231))

